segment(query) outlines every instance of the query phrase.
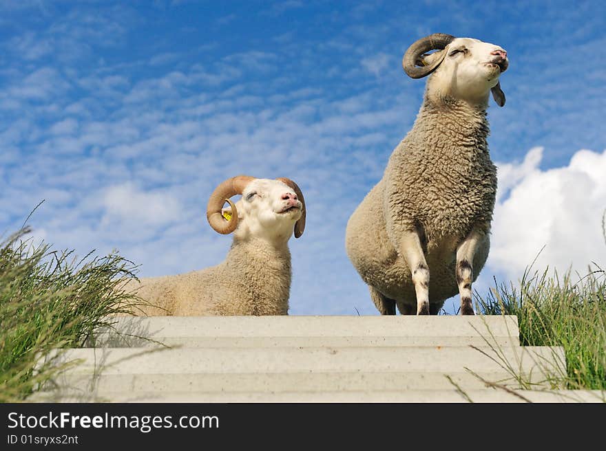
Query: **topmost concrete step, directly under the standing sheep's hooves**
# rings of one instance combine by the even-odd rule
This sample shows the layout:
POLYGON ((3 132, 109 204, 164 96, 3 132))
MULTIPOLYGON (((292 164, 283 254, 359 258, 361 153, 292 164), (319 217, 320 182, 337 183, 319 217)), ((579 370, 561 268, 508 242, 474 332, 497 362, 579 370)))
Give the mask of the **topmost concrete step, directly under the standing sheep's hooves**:
MULTIPOLYGON (((434 347, 519 345, 515 316, 115 317, 95 346, 434 347), (147 338, 147 340, 146 340, 147 338), (153 341, 150 341, 153 340, 153 341)), ((92 343, 91 343, 92 344, 92 343)))

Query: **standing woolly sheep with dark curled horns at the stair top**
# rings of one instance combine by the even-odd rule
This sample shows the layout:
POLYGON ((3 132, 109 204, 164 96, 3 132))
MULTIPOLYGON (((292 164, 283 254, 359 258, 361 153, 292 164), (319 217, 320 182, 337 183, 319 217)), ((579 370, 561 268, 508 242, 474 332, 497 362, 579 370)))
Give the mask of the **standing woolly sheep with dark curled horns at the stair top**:
POLYGON ((448 34, 406 50, 408 76, 432 74, 424 102, 346 229, 348 257, 382 314, 437 314, 457 292, 461 314, 474 314, 471 284, 488 257, 497 192, 486 109, 490 91, 505 104, 508 64, 502 47, 448 34))

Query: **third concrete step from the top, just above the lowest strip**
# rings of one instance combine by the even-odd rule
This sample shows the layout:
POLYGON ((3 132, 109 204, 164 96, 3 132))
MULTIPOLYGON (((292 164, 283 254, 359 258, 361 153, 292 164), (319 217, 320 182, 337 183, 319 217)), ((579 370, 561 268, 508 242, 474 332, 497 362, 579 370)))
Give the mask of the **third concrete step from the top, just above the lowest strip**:
MULTIPOLYGON (((172 393, 178 391, 206 393, 285 393, 293 391, 390 391, 446 390, 459 386, 465 389, 485 388, 482 380, 519 388, 519 381, 504 371, 471 373, 453 372, 356 372, 356 373, 188 373, 188 374, 105 374, 66 373, 58 377, 64 390, 70 393, 114 392, 172 393), (448 376, 448 377, 447 377, 448 376), (449 379, 450 377, 450 379, 449 379), (451 382, 452 381, 452 382, 451 382), (454 384, 456 385, 454 385, 454 384)), ((541 384, 536 374, 527 380, 541 384)))

